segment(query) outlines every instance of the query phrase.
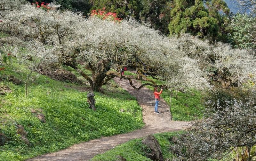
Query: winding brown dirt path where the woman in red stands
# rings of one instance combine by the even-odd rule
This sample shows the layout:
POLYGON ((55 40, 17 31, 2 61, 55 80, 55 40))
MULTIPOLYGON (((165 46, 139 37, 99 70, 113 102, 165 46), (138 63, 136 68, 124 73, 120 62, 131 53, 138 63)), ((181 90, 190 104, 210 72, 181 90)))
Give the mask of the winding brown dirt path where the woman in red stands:
MULTIPOLYGON (((114 80, 119 86, 135 96, 138 103, 143 108, 143 120, 146 124, 143 129, 76 144, 67 149, 35 157, 28 161, 86 161, 90 160, 97 154, 104 153, 107 150, 114 148, 116 145, 127 142, 131 139, 159 132, 181 130, 188 124, 188 122, 171 121, 168 104, 163 99, 159 101, 158 111, 160 114, 154 113, 154 96, 152 91, 148 88, 143 87, 139 91, 135 91, 130 86, 129 81, 119 80, 119 78, 115 78, 114 80)), ((134 80, 133 82, 136 86, 140 85, 138 81, 134 80)))

